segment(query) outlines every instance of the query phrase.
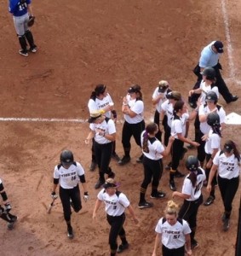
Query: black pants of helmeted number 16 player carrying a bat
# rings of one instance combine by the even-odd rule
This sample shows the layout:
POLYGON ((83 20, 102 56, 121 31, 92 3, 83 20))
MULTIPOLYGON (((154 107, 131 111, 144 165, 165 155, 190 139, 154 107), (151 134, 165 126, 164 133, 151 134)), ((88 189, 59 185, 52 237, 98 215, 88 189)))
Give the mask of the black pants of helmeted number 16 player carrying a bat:
POLYGON ((60 187, 60 200, 63 206, 64 218, 66 222, 70 221, 72 214, 70 200, 72 200, 72 205, 75 212, 79 212, 82 208, 78 184, 73 189, 63 189, 60 187))

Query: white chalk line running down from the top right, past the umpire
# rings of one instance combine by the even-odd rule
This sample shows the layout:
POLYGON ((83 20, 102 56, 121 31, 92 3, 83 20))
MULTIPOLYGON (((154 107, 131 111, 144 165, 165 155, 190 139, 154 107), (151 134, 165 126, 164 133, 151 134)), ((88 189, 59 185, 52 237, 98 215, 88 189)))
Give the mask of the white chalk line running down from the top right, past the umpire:
POLYGON ((224 22, 225 36, 227 39, 227 58, 228 58, 228 67, 229 67, 229 77, 236 84, 240 85, 241 81, 235 78, 236 70, 234 67, 233 57, 232 57, 232 43, 231 43, 231 36, 230 36, 230 30, 229 30, 226 0, 221 0, 221 11, 222 11, 223 22, 224 22))

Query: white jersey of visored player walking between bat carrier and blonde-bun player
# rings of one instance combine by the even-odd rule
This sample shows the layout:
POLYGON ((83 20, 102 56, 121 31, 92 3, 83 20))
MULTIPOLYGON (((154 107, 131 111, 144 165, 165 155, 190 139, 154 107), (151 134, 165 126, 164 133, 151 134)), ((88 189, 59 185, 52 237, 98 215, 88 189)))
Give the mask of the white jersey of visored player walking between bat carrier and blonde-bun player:
POLYGON ((110 216, 120 216, 126 207, 129 207, 129 200, 122 192, 114 195, 108 195, 105 189, 101 189, 97 198, 104 201, 106 205, 106 213, 110 216))

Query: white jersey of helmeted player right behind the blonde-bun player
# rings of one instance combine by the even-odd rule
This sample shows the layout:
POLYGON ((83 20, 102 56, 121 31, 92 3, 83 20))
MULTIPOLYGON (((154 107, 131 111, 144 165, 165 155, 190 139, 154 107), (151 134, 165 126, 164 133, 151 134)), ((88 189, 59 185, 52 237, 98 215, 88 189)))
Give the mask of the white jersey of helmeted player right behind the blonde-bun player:
POLYGON ((186 175, 184 179, 181 193, 190 195, 190 198, 186 199, 186 201, 195 201, 195 200, 198 200, 198 198, 202 194, 201 189, 203 187, 204 180, 206 180, 206 175, 205 175, 204 169, 199 167, 197 172, 197 183, 194 188, 192 187, 192 183, 191 183, 191 179, 189 178, 189 175, 190 174, 186 175))

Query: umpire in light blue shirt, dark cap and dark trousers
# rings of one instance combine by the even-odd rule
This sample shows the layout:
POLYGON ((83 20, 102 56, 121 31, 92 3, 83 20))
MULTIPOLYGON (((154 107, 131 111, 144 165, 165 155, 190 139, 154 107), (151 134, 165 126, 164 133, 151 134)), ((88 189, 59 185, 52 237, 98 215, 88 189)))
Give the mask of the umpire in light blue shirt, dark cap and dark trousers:
MULTIPOLYGON (((200 72, 204 70, 205 67, 213 67, 216 73, 216 86, 218 87, 221 96, 223 96, 224 100, 227 103, 236 102, 238 100, 238 96, 233 96, 231 92, 227 88, 227 84, 221 77, 220 70, 222 69, 221 64, 219 63, 219 57, 223 53, 223 44, 221 41, 213 41, 204 47, 201 52, 201 56, 199 59, 198 65, 194 68, 193 72, 198 76, 198 81, 194 85, 193 89, 197 89, 202 81, 202 75, 200 72)), ((193 96, 195 97, 195 96, 193 96)), ((195 107, 197 99, 189 98, 189 103, 192 107, 195 107)))

